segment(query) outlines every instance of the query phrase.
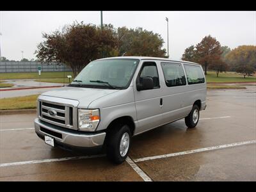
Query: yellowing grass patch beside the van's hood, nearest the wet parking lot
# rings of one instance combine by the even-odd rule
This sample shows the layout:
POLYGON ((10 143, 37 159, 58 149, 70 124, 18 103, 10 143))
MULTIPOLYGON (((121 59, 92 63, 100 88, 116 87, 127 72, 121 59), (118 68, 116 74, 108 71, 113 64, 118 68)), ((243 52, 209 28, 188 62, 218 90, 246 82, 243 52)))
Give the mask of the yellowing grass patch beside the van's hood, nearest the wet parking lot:
POLYGON ((38 95, 0 99, 0 110, 35 109, 38 95))

